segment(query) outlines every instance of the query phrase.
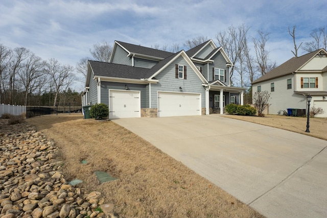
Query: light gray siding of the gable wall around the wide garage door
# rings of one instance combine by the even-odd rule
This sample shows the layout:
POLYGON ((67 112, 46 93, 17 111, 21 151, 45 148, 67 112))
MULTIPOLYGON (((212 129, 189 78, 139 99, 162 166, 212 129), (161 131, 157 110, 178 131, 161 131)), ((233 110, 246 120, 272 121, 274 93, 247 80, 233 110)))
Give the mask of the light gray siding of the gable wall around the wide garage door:
POLYGON ((205 107, 205 89, 201 85, 200 78, 196 75, 191 66, 182 58, 177 58, 172 64, 156 76, 159 80, 157 84, 151 84, 151 108, 158 106, 158 91, 173 91, 181 92, 179 87, 182 87, 185 93, 201 93, 201 107, 205 107), (186 66, 186 80, 175 78, 175 64, 186 66))

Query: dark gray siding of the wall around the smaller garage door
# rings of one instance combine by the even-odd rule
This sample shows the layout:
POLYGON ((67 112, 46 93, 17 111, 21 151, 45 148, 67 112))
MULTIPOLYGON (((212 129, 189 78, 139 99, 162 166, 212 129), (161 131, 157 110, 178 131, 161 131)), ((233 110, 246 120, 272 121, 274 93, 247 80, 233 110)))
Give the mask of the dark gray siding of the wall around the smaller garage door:
MULTIPOLYGON (((125 90, 125 85, 128 86, 129 90, 141 91, 141 108, 146 108, 146 88, 143 84, 131 84, 131 83, 115 83, 115 82, 101 82, 101 103, 109 106, 109 89, 125 90)), ((149 103, 148 103, 149 105, 149 103)))

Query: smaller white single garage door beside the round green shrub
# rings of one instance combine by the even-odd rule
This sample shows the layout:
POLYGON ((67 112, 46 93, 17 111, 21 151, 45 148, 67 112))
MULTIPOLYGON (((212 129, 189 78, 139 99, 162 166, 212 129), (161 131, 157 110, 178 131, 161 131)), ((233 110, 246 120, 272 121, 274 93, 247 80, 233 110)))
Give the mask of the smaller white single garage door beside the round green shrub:
POLYGON ((109 118, 141 117, 140 91, 109 90, 109 118))

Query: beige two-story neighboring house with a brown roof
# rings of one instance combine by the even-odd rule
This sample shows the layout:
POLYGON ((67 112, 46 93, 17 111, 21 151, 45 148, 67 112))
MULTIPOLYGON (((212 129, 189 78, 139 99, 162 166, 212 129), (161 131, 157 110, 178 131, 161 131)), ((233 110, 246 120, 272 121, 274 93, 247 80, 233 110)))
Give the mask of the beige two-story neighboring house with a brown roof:
POLYGON ((307 109, 307 95, 312 96, 311 107, 322 108, 327 117, 327 52, 324 49, 301 57, 293 57, 252 83, 252 93, 270 93, 269 113, 277 114, 288 108, 307 109))

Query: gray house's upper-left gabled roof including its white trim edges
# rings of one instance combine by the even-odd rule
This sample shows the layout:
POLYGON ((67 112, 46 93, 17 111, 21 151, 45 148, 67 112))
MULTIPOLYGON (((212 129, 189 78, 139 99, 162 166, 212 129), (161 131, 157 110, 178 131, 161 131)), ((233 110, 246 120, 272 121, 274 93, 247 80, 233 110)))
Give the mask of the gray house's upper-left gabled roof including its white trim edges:
POLYGON ((113 50, 117 45, 121 46, 126 52, 129 53, 129 55, 145 56, 154 59, 164 59, 174 54, 171 52, 151 49, 150 47, 144 47, 141 45, 130 44, 122 41, 115 41, 113 45, 113 50))

